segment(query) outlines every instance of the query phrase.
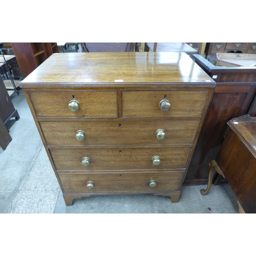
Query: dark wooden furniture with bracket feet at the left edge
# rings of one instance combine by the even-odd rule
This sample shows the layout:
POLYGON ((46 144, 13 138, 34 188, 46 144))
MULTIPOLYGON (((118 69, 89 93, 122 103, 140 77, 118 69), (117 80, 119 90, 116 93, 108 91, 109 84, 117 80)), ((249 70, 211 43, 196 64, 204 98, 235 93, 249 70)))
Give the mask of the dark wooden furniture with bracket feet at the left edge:
POLYGON ((14 109, 11 98, 6 90, 2 77, 0 76, 0 146, 6 150, 8 142, 12 140, 7 128, 7 122, 15 117, 19 119, 17 110, 14 109))

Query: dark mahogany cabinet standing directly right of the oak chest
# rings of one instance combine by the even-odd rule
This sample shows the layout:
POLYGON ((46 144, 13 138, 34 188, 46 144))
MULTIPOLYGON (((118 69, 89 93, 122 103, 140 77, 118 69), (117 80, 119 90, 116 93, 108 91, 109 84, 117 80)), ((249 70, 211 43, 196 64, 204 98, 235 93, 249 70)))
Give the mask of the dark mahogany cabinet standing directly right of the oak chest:
MULTIPOLYGON (((184 185, 207 184, 208 163, 217 157, 227 121, 244 114, 256 115, 256 67, 216 67, 200 55, 193 58, 216 81, 216 87, 184 185)), ((214 180, 215 185, 223 182, 219 175, 214 180)))

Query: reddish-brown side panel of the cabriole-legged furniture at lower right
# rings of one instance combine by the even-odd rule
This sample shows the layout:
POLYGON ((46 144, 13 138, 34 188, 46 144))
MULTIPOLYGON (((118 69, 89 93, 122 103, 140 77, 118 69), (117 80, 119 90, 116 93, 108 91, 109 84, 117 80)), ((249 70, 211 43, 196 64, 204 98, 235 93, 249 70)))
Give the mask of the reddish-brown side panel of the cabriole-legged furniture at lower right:
POLYGON ((245 212, 256 213, 256 159, 229 129, 216 159, 245 212))

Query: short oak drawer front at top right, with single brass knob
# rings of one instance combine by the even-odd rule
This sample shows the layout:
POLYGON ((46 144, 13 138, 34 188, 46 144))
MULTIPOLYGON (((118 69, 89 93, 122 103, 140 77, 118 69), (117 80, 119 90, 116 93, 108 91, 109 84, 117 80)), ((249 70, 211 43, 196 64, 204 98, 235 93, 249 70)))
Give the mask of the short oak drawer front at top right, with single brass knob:
POLYGON ((208 91, 123 91, 123 117, 189 117, 201 116, 208 91), (159 103, 168 100, 168 111, 159 103))

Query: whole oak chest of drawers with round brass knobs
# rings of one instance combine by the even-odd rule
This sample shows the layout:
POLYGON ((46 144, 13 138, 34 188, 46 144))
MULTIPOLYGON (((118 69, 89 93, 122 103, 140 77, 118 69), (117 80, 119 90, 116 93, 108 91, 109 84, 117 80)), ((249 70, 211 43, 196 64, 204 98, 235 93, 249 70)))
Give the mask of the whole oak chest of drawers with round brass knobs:
POLYGON ((139 193, 177 202, 215 82, 185 53, 60 53, 20 87, 72 205, 139 193))

